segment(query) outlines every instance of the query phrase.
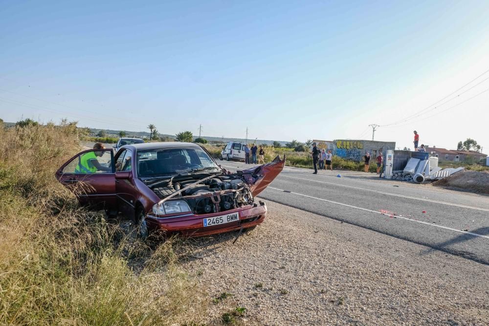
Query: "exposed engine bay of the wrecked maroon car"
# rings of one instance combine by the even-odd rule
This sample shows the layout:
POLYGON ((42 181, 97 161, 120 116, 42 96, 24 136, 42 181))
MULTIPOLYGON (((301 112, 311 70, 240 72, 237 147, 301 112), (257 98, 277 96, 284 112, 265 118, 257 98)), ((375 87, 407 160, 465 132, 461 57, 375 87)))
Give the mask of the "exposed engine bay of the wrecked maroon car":
MULTIPOLYGON (((174 194, 197 180, 175 181, 158 184, 152 190, 161 199, 174 194)), ((253 195, 243 176, 219 175, 184 189, 177 198, 184 198, 194 214, 210 214, 253 204, 253 195)))

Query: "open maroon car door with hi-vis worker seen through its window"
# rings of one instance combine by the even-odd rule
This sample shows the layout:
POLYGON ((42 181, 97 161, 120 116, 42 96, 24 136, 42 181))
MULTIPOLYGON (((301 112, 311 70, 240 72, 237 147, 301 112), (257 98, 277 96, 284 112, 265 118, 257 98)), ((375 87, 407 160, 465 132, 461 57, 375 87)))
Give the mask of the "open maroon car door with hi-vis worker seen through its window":
POLYGON ((88 150, 78 153, 56 171, 56 179, 72 191, 82 205, 116 207, 115 166, 112 149, 88 150), (93 162, 94 159, 97 162, 93 162), (93 163, 87 163, 88 161, 95 163, 100 169, 96 168, 93 163))

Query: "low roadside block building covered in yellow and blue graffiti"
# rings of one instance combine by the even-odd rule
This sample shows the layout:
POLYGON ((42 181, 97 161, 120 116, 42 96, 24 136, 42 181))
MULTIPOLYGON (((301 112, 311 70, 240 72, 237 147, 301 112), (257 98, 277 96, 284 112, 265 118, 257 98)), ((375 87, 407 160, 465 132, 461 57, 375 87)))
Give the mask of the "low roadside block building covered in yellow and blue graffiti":
POLYGON ((383 142, 374 140, 353 140, 353 139, 335 139, 335 140, 313 140, 319 149, 331 150, 333 155, 346 159, 361 161, 366 152, 372 157, 377 157, 378 153, 384 155, 387 150, 395 150, 396 142, 383 142))

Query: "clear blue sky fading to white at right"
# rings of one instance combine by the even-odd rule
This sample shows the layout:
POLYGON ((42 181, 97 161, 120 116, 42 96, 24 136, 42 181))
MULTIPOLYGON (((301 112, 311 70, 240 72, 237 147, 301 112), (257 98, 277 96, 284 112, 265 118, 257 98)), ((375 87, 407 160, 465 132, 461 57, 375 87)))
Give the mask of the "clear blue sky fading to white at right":
MULTIPOLYGON (((69 2, 2 2, 3 120, 369 139, 489 69, 488 1, 69 2)), ((489 150, 488 87, 376 139, 489 150)))

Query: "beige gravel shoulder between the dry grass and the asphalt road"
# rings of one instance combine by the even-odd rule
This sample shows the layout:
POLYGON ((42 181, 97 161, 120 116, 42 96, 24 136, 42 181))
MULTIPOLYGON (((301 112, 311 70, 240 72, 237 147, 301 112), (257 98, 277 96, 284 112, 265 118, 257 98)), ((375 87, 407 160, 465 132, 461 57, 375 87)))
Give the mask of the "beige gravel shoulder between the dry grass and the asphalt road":
POLYGON ((232 294, 210 317, 226 305, 247 309, 244 325, 489 324, 489 266, 267 206, 265 222, 235 244, 237 232, 193 240, 184 268, 209 301, 232 294))

